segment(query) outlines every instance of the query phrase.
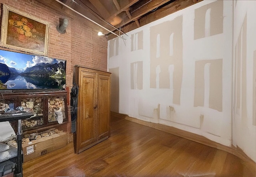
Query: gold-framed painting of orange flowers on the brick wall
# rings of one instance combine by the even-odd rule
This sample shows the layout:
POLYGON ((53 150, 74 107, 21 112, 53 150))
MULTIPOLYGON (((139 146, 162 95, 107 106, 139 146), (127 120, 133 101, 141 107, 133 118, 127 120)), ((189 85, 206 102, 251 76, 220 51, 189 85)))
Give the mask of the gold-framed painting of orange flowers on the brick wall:
POLYGON ((48 54, 50 24, 44 20, 3 5, 2 47, 40 55, 48 54))

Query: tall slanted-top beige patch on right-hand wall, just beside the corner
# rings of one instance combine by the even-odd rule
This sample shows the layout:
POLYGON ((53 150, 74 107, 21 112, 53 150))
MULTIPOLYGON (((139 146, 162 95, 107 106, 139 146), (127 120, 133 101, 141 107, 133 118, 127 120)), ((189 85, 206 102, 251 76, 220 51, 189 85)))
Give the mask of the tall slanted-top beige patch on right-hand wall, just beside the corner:
POLYGON ((246 103, 246 40, 247 37, 247 15, 235 45, 235 75, 234 75, 234 109, 242 119, 247 119, 246 103))

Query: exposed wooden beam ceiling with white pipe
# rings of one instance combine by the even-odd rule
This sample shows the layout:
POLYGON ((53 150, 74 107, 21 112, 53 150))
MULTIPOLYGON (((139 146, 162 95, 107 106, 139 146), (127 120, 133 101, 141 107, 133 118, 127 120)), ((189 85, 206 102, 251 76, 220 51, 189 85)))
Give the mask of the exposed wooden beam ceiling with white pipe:
POLYGON ((57 11, 89 18, 109 39, 144 26, 202 0, 38 0, 57 11), (98 26, 98 24, 100 26, 98 26), (115 33, 115 34, 113 34, 115 33))

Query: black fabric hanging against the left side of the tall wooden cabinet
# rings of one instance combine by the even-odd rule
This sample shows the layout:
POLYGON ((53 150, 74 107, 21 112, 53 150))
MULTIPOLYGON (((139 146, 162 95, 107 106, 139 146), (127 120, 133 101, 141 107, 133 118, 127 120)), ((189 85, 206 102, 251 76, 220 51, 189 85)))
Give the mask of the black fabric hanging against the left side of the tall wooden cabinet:
POLYGON ((77 104, 78 104, 78 86, 74 83, 70 92, 70 106, 71 106, 71 132, 76 132, 76 118, 77 118, 77 104))

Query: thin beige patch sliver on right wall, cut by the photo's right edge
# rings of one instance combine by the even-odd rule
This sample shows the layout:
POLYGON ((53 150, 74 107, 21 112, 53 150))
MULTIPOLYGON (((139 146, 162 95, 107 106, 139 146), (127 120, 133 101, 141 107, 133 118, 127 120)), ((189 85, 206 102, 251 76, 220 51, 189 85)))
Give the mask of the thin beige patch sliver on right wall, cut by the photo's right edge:
POLYGON ((256 51, 253 55, 253 98, 252 98, 252 125, 256 126, 256 51))

